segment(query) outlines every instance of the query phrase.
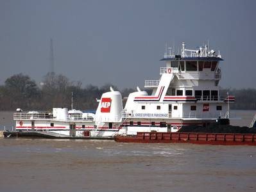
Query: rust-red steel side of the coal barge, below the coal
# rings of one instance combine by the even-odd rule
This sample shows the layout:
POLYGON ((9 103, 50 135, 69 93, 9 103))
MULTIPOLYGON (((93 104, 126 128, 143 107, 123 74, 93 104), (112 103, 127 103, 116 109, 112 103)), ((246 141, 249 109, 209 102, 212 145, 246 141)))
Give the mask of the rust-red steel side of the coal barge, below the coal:
POLYGON ((125 143, 194 143, 210 145, 256 145, 256 134, 138 132, 137 136, 115 136, 125 143))

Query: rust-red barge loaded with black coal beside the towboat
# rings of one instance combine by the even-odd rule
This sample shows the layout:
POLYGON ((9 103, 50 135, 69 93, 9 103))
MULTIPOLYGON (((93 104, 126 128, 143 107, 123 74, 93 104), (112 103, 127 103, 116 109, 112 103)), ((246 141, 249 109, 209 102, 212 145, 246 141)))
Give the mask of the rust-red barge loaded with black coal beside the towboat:
POLYGON ((207 127, 186 126, 178 132, 138 132, 136 136, 115 136, 115 141, 124 143, 256 145, 255 118, 253 118, 251 125, 250 128, 220 123, 211 124, 207 127))

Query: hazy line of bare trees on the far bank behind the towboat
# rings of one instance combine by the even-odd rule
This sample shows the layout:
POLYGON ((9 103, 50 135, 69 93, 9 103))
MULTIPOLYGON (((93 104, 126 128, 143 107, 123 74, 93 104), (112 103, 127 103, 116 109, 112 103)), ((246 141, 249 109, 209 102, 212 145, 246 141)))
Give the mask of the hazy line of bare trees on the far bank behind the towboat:
MULTIPOLYGON (((93 85, 82 86, 81 82, 72 82, 63 75, 48 73, 42 83, 35 83, 29 76, 15 74, 6 79, 0 86, 0 110, 13 111, 17 108, 24 110, 49 110, 52 108, 71 108, 71 93, 73 92, 73 107, 75 109, 96 109, 102 93, 108 92, 112 84, 98 87, 93 85)), ((135 90, 125 88, 119 90, 123 97, 135 90)), ((256 109, 255 89, 226 89, 221 95, 235 96, 235 103, 230 104, 232 109, 256 109)))

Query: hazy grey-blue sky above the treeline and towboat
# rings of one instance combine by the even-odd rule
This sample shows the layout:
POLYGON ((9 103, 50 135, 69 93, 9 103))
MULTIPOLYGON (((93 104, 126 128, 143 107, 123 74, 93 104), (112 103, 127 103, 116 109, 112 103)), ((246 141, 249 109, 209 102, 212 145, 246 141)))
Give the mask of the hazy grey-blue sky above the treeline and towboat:
POLYGON ((144 86, 158 79, 166 42, 176 51, 210 42, 225 61, 221 86, 256 88, 256 1, 0 0, 0 84, 49 71, 83 85, 144 86))

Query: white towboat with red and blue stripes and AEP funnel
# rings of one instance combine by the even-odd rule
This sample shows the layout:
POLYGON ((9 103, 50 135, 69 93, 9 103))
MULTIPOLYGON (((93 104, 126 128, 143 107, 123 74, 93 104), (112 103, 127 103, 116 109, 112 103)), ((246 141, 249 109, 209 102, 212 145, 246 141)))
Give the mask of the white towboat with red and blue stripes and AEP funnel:
POLYGON ((181 54, 169 49, 160 60, 157 80, 146 80, 128 95, 123 108, 120 92, 110 88, 98 100, 96 113, 53 108, 51 113, 21 109, 13 114, 16 131, 43 131, 70 137, 114 137, 137 132, 176 132, 186 125, 207 125, 219 118, 229 122, 229 105, 235 97, 221 95, 221 54, 207 45, 181 54))

